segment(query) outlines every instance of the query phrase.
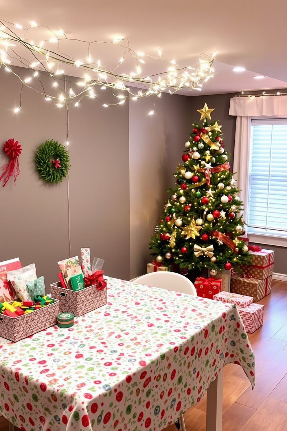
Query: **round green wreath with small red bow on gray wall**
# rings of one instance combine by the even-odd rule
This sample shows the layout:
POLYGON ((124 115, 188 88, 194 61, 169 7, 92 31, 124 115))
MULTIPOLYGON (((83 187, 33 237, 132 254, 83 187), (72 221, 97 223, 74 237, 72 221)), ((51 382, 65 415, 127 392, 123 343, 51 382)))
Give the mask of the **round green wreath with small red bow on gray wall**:
POLYGON ((40 178, 49 183, 60 183, 68 174, 70 157, 64 145, 46 141, 39 145, 35 154, 36 169, 40 178))

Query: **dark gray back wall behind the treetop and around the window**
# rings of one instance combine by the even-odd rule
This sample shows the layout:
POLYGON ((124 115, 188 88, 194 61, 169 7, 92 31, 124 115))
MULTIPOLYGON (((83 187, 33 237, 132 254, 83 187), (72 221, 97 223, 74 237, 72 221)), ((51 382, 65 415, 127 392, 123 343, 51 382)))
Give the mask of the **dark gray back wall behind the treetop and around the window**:
MULTIPOLYGON (((284 92, 286 89, 278 89, 272 91, 266 91, 266 93, 276 93, 277 91, 284 92)), ((262 94, 262 91, 255 91, 253 94, 262 94)), ((236 117, 230 116, 229 112, 229 104, 231 97, 234 97, 234 94, 214 94, 210 96, 193 96, 190 97, 190 113, 191 113, 191 128, 192 122, 199 122, 200 114, 197 112, 197 109, 201 109, 204 106, 204 103, 207 103, 209 108, 215 108, 213 112, 211 112, 211 118, 213 120, 219 119, 219 125, 222 125, 222 132, 224 134, 224 145, 225 149, 228 153, 231 153, 230 158, 230 166, 232 170, 233 166, 233 156, 234 156, 234 142, 235 142, 235 125, 236 125, 236 117)), ((253 243, 250 243, 253 244, 253 243)), ((259 244, 259 243, 258 243, 259 244)), ((262 248, 275 250, 275 263, 274 263, 274 272, 279 274, 286 274, 286 262, 287 262, 287 248, 285 247, 277 247, 274 245, 261 245, 262 248)))

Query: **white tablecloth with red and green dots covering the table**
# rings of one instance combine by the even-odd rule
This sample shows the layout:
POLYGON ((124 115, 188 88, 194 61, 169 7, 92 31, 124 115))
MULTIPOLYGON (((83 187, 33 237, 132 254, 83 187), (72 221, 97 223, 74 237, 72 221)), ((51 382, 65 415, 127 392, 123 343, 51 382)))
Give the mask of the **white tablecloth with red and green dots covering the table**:
POLYGON ((72 328, 0 338, 0 412, 26 431, 160 430, 230 362, 253 387, 235 306, 110 278, 108 304, 72 328))

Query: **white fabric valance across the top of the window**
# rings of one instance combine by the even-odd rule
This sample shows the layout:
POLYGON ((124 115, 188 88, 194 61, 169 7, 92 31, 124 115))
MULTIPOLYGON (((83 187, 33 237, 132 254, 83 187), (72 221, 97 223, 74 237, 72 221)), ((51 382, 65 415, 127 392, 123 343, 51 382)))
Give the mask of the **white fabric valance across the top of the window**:
POLYGON ((287 96, 232 97, 229 115, 240 117, 287 116, 287 96))

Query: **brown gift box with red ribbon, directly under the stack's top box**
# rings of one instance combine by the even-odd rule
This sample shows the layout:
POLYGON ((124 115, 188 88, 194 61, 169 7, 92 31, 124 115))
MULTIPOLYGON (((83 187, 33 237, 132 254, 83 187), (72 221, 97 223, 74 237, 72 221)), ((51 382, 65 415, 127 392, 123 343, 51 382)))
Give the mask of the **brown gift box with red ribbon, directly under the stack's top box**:
POLYGON ((257 278, 242 278, 239 275, 233 275, 231 278, 231 291, 234 294, 251 296, 254 302, 257 302, 270 294, 271 284, 272 276, 265 280, 260 280, 257 278))

